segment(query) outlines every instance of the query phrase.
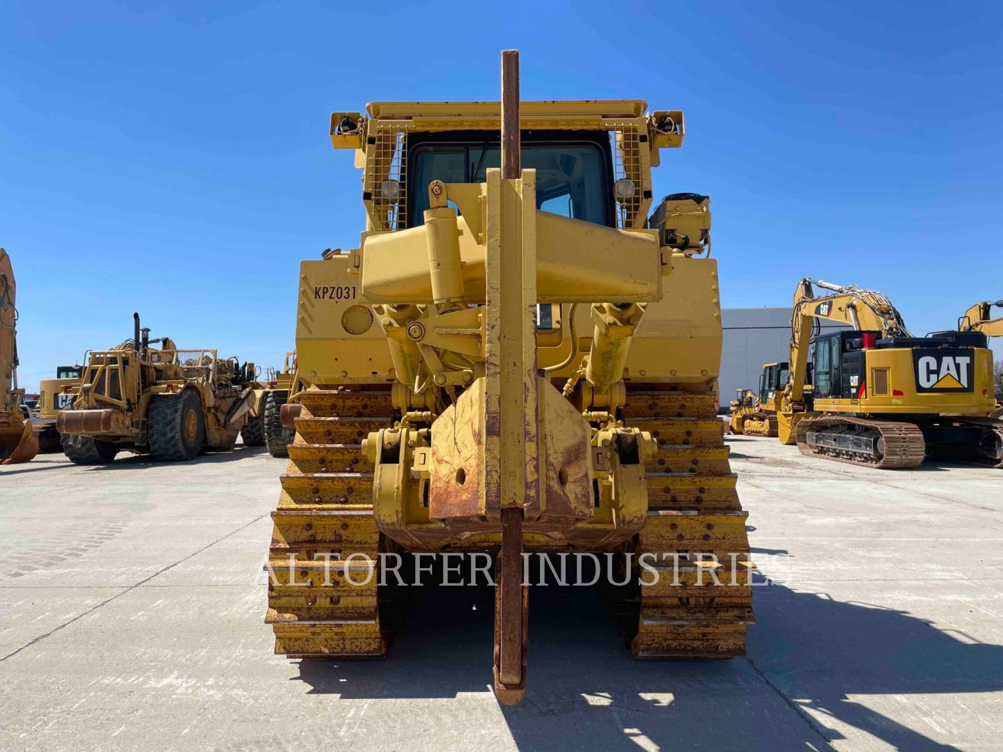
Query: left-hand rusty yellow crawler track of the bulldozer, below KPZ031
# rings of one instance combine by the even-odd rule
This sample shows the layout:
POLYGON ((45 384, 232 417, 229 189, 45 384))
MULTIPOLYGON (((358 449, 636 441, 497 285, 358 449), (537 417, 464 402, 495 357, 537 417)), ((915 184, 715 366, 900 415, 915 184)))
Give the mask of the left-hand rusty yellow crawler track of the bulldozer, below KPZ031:
POLYGON ((300 401, 272 512, 265 622, 277 655, 381 658, 388 646, 376 595, 381 540, 373 466, 361 442, 392 425, 390 386, 311 387, 300 401))

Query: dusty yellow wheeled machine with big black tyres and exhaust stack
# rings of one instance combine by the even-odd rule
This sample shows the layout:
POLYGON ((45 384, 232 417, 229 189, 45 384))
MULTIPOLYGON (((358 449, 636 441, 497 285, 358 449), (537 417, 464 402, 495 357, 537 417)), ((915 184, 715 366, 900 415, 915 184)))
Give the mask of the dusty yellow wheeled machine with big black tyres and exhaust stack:
POLYGON ((221 360, 216 350, 180 350, 169 337, 150 339, 138 314, 133 327, 132 339, 86 354, 72 404, 56 415, 66 456, 104 464, 122 450, 188 460, 206 449, 233 449, 247 420, 254 366, 221 360))

